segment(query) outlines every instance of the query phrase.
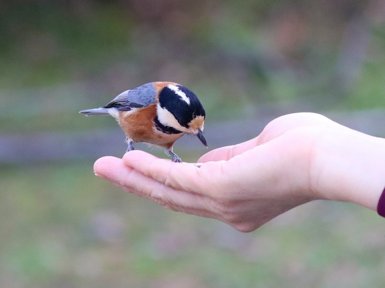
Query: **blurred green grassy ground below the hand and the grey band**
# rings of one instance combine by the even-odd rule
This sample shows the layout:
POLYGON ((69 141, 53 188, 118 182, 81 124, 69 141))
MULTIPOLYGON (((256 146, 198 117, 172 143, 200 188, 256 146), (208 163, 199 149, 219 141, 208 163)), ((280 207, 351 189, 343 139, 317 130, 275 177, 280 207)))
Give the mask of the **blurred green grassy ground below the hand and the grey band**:
POLYGON ((0 284, 20 287, 380 287, 382 219, 316 202, 242 234, 168 211, 92 163, 2 167, 0 284))

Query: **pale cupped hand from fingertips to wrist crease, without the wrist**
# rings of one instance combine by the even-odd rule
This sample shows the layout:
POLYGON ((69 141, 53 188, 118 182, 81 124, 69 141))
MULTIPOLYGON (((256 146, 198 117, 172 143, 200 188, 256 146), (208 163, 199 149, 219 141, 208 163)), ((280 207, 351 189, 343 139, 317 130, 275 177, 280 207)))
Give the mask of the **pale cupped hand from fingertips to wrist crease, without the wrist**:
MULTIPOLYGON (((250 232, 298 205, 322 198, 315 147, 338 124, 297 113, 270 122, 254 139, 219 148, 191 163, 174 163, 142 151, 103 157, 95 173, 121 189, 168 209, 210 217, 250 232)), ((230 137, 230 135, 229 135, 230 137)))

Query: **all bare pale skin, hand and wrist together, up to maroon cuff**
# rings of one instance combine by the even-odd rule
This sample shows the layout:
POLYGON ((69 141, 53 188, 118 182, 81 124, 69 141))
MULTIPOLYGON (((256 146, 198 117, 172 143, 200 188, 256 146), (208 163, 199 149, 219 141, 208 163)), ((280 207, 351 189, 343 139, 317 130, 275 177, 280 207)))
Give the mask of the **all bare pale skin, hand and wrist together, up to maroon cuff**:
POLYGON ((314 113, 281 116, 256 138, 198 162, 200 168, 130 151, 98 159, 94 171, 127 192, 241 232, 317 199, 376 210, 385 186, 385 139, 314 113))

